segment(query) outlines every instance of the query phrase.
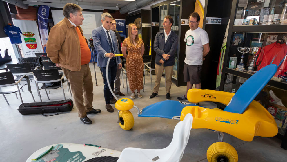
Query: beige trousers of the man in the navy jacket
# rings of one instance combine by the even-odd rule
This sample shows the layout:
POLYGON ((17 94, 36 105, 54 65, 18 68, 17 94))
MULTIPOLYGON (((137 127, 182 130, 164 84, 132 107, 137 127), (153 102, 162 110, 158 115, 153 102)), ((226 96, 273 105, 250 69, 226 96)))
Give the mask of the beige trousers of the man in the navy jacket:
POLYGON ((164 64, 161 65, 155 64, 155 86, 153 87, 154 93, 158 93, 159 91, 159 85, 163 71, 165 71, 166 73, 166 93, 170 93, 173 65, 164 67, 164 64))

